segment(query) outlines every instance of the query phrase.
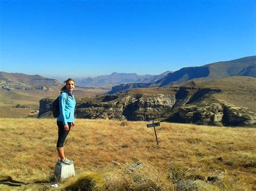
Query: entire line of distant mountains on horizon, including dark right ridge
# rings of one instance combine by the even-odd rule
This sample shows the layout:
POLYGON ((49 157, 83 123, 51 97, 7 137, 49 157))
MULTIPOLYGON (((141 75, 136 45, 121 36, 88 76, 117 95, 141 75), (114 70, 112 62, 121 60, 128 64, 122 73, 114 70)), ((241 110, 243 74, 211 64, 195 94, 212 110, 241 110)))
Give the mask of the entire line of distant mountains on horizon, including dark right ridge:
MULTIPOLYGON (((112 73, 97 77, 75 78, 79 87, 107 87, 109 94, 133 88, 163 87, 182 84, 191 80, 209 81, 231 76, 256 77, 256 56, 247 56, 230 61, 220 61, 199 67, 185 67, 176 72, 159 75, 138 75, 136 73, 112 73)), ((2 88, 40 89, 63 86, 63 82, 40 75, 0 72, 2 88)))

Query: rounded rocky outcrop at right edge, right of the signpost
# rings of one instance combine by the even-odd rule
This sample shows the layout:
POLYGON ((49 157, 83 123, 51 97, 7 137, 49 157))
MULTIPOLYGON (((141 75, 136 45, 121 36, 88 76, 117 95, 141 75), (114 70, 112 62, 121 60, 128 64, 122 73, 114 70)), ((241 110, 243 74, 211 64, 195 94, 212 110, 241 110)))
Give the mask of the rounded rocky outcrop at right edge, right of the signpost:
POLYGON ((256 115, 247 108, 239 108, 227 103, 212 103, 184 105, 167 121, 199 125, 244 126, 256 123, 256 115))

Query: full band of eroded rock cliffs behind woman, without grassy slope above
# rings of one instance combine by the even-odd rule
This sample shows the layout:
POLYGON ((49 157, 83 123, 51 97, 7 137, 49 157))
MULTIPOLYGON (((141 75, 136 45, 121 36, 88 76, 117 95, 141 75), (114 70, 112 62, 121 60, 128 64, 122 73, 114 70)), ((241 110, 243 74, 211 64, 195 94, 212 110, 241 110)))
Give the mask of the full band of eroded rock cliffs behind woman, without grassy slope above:
MULTIPOLYGON (((124 93, 77 101, 77 118, 168 121, 200 125, 242 126, 256 124, 256 114, 211 95, 221 90, 196 87, 171 88, 169 94, 124 93), (207 100, 206 97, 210 97, 207 100)), ((51 115, 53 99, 40 101, 38 117, 51 115)))

